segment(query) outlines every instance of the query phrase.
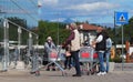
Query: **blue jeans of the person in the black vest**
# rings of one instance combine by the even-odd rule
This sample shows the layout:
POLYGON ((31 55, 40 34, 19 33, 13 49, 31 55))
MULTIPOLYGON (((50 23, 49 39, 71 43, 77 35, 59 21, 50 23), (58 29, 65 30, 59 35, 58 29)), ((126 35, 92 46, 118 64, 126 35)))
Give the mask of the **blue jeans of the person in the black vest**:
POLYGON ((98 52, 100 60, 100 72, 105 72, 103 54, 104 52, 98 52))

